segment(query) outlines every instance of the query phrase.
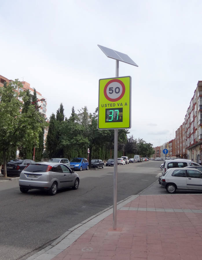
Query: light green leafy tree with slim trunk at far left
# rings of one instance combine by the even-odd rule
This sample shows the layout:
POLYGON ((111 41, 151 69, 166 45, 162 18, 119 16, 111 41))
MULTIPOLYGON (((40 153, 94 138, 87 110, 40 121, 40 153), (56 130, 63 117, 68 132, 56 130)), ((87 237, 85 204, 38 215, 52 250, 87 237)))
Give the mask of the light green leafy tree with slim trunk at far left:
POLYGON ((5 177, 6 159, 10 151, 16 146, 25 147, 30 142, 38 146, 38 133, 46 125, 45 120, 36 113, 34 105, 29 106, 25 113, 20 112, 28 100, 25 92, 17 91, 22 87, 21 82, 15 80, 0 88, 0 151, 3 153, 5 177))

